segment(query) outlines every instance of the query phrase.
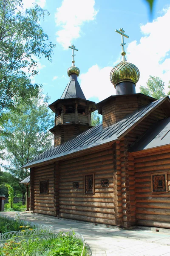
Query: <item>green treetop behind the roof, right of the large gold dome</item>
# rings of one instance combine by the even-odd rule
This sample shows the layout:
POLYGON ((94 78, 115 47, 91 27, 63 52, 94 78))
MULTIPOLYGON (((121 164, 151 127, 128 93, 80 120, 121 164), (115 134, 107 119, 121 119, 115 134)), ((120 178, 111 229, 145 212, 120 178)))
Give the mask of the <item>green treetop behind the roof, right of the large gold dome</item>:
MULTIPOLYGON (((140 86, 140 92, 156 99, 166 96, 164 93, 164 82, 157 76, 149 76, 147 87, 140 86)), ((170 91, 167 95, 170 95, 170 91)))

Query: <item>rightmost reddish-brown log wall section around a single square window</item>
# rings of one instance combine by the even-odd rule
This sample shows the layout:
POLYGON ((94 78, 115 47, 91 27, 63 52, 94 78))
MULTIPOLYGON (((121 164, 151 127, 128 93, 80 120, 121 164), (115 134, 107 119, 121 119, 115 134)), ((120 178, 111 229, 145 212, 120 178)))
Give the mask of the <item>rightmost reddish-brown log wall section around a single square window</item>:
POLYGON ((134 170, 137 224, 170 228, 170 149, 136 155, 134 170), (168 192, 151 192, 151 174, 161 172, 168 192))

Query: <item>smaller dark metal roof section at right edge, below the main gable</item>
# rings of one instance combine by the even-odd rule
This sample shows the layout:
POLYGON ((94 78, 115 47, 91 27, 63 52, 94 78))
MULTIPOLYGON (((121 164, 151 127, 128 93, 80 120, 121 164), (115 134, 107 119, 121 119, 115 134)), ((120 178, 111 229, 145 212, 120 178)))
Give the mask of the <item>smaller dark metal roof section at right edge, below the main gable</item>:
POLYGON ((130 152, 155 148, 170 144, 170 117, 158 121, 130 149, 130 152))

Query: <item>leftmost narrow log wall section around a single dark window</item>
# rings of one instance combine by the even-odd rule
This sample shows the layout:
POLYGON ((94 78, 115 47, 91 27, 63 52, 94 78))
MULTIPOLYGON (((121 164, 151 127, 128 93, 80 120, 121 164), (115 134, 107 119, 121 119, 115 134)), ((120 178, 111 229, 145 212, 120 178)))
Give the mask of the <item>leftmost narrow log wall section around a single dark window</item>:
POLYGON ((54 183, 57 183, 57 173, 57 166, 54 163, 34 168, 34 212, 56 215, 58 205, 57 191, 54 191, 54 183), (54 168, 56 169, 55 172, 54 168), (40 194, 41 180, 48 180, 48 194, 40 194))

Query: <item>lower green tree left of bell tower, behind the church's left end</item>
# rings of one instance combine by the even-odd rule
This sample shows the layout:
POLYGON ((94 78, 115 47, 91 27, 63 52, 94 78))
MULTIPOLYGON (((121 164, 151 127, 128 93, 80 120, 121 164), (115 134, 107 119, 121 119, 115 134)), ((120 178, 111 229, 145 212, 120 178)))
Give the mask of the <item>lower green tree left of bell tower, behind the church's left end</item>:
POLYGON ((26 186, 20 181, 28 177, 29 172, 21 166, 32 160, 52 145, 53 135, 48 131, 54 126, 54 118, 48 110, 48 97, 39 94, 30 103, 19 105, 19 110, 9 115, 3 126, 2 142, 5 150, 3 166, 16 179, 23 194, 25 204, 26 186), (7 152, 7 153, 6 153, 7 152))

